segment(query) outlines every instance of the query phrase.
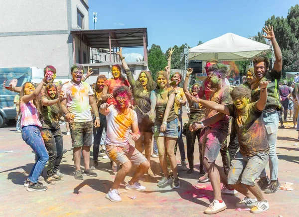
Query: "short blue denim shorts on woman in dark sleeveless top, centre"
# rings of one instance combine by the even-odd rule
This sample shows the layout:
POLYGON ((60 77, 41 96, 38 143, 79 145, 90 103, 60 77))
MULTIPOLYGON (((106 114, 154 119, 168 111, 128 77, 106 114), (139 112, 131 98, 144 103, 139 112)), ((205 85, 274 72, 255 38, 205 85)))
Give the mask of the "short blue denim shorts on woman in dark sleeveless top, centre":
POLYGON ((169 138, 178 138, 178 120, 175 118, 173 121, 167 122, 166 130, 161 132, 162 123, 154 122, 153 136, 165 136, 169 138))

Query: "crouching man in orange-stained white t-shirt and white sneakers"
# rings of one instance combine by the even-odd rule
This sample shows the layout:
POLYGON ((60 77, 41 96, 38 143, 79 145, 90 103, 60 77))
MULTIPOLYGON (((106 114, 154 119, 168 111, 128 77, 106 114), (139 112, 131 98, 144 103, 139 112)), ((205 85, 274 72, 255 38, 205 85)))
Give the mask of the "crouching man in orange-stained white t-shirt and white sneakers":
POLYGON ((132 164, 138 166, 133 178, 126 186, 127 190, 145 191, 146 187, 140 185, 138 180, 148 171, 149 161, 129 144, 129 134, 134 141, 140 137, 136 112, 129 107, 132 93, 127 86, 121 86, 113 91, 113 97, 116 105, 113 103, 104 103, 100 106, 100 112, 106 115, 106 154, 121 169, 117 173, 114 184, 106 195, 106 198, 112 202, 121 202, 118 188, 131 170, 132 164), (133 133, 130 132, 132 129, 133 133))

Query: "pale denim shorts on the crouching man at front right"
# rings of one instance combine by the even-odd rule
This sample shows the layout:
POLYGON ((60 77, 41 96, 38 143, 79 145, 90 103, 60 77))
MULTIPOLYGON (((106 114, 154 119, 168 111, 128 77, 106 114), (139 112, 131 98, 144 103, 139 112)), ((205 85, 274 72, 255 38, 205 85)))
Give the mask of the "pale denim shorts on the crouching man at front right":
POLYGON ((237 152, 231 162, 227 183, 235 185, 241 182, 248 186, 255 186, 255 180, 266 167, 268 159, 267 152, 260 152, 251 157, 244 157, 240 152, 237 152))

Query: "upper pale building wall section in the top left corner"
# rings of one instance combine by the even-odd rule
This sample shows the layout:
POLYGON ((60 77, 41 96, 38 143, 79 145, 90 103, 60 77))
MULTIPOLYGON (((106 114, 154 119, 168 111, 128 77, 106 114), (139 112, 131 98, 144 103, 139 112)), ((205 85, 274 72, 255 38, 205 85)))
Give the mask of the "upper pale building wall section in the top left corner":
POLYGON ((0 32, 67 29, 66 0, 1 0, 0 14, 0 32))

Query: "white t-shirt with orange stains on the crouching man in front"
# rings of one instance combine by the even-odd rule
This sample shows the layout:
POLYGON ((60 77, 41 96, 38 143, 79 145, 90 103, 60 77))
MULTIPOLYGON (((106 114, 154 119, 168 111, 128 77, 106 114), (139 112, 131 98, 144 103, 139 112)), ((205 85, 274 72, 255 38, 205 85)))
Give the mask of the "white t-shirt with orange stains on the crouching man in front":
POLYGON ((128 145, 131 126, 133 124, 138 125, 136 112, 132 109, 129 109, 129 112, 124 114, 114 105, 111 105, 109 107, 109 113, 106 115, 106 119, 106 145, 128 145))

